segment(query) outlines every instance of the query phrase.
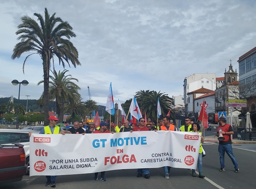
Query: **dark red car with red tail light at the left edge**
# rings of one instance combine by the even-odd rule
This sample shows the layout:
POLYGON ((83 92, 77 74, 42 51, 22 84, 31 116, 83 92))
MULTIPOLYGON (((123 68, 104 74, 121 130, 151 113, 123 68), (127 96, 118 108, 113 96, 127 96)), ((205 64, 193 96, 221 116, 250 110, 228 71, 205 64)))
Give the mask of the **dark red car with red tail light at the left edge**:
POLYGON ((19 181, 27 172, 25 151, 22 144, 0 144, 0 183, 19 181))

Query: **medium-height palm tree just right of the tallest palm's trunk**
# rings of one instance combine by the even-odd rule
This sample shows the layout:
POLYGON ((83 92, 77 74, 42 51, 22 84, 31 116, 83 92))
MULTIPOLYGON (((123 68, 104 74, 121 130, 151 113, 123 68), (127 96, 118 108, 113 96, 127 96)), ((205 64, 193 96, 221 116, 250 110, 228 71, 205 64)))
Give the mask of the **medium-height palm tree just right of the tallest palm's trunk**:
MULTIPOLYGON (((52 72, 52 71, 51 71, 52 72)), ((71 99, 81 98, 78 90, 81 88, 76 85, 73 80, 78 82, 78 79, 72 78, 72 75, 65 75, 68 70, 63 70, 62 72, 52 72, 53 76, 50 75, 49 81, 49 99, 56 100, 56 113, 60 123, 63 121, 63 110, 64 102, 70 102, 71 99)), ((37 85, 44 83, 44 81, 39 81, 37 85)))

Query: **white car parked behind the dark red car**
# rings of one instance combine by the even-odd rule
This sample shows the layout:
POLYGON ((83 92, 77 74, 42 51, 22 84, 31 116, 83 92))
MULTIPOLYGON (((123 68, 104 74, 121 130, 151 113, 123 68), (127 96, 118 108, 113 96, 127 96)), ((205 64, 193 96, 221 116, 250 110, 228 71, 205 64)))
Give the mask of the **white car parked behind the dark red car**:
POLYGON ((28 166, 26 175, 29 175, 29 136, 28 132, 39 133, 36 130, 23 129, 0 129, 0 144, 20 143, 24 145, 26 164, 28 166))

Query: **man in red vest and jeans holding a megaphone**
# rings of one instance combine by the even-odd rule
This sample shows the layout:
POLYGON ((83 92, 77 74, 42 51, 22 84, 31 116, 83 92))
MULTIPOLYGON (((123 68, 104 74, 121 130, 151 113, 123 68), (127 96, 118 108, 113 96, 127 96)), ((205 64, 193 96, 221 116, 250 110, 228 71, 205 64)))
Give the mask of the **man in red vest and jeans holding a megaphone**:
POLYGON ((232 160, 232 163, 235 167, 235 172, 238 173, 239 168, 238 164, 236 162, 236 158, 233 154, 232 150, 232 141, 231 141, 231 134, 234 134, 233 128, 231 125, 226 124, 226 120, 223 117, 219 118, 219 127, 217 129, 217 137, 219 140, 219 154, 220 154, 220 171, 225 170, 225 159, 224 155, 225 152, 229 156, 229 158, 232 160))

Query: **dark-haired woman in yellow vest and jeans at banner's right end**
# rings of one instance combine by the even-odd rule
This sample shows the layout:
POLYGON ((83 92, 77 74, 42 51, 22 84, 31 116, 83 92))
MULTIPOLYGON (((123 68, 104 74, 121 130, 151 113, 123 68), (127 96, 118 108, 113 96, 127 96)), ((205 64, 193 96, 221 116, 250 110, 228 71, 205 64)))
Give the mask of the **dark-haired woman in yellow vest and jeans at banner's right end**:
MULTIPOLYGON (((200 125, 198 123, 194 123, 193 127, 190 129, 190 132, 197 132, 198 134, 201 134, 201 143, 200 143, 200 148, 199 148, 199 155, 198 155, 198 160, 197 160, 197 165, 198 165, 198 171, 199 171, 199 178, 204 178, 205 176, 202 173, 203 169, 203 163, 202 163, 202 158, 203 158, 203 147, 202 143, 204 142, 204 138, 202 136, 202 132, 200 130, 200 125)), ((192 176, 196 177, 196 170, 192 169, 192 176)))

